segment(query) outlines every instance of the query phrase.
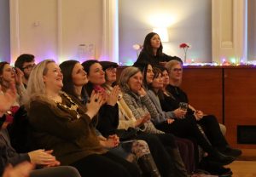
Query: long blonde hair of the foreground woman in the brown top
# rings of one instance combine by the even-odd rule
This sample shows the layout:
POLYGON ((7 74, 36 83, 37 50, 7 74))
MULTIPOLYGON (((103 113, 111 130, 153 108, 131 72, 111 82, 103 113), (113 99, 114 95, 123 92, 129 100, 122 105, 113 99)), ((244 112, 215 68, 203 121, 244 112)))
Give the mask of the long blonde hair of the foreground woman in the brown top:
POLYGON ((44 100, 51 103, 52 101, 49 101, 45 95, 45 85, 44 85, 44 79, 43 77, 48 71, 47 65, 49 63, 55 63, 54 60, 43 60, 40 63, 38 63, 37 66, 35 66, 32 69, 31 75, 28 79, 27 88, 26 88, 26 108, 30 107, 30 103, 33 100, 44 100))

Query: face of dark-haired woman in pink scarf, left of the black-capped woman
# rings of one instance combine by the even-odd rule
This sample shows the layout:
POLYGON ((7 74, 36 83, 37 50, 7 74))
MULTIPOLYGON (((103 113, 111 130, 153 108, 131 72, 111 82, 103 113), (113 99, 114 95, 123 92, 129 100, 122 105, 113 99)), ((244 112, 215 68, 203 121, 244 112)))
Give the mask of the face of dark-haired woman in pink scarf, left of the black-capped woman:
POLYGON ((90 66, 90 71, 88 74, 88 79, 90 83, 94 85, 102 85, 106 82, 105 80, 105 72, 102 69, 101 64, 95 63, 90 66))

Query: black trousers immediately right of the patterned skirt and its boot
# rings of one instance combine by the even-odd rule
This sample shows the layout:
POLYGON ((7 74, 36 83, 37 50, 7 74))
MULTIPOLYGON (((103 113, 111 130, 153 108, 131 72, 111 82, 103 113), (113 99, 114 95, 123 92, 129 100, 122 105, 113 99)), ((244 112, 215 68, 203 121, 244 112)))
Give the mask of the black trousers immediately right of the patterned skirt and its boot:
POLYGON ((168 152, 168 147, 175 147, 172 134, 145 134, 137 135, 137 140, 145 140, 148 143, 149 150, 154 158, 157 168, 162 177, 174 176, 172 157, 168 152))

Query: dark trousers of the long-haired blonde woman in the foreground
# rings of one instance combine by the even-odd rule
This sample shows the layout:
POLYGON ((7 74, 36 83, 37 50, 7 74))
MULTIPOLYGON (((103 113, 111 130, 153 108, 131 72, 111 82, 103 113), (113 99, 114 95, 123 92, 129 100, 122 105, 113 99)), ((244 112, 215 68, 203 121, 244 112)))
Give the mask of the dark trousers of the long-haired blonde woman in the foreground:
POLYGON ((140 176, 139 168, 122 157, 111 152, 102 155, 92 154, 71 164, 77 168, 82 177, 85 176, 140 176))

